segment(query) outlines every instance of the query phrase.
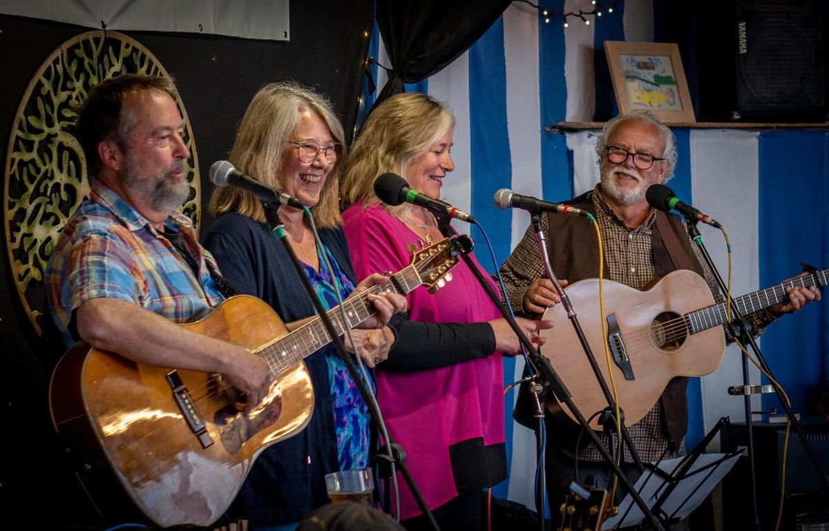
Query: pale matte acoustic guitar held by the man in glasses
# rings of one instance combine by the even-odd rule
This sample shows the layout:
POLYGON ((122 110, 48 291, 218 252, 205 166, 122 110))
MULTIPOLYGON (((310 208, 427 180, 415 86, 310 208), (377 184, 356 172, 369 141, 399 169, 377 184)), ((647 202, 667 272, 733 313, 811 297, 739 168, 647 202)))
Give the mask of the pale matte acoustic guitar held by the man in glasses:
MULTIPOLYGON (((741 315, 773 306, 788 299, 787 287, 827 285, 829 269, 794 278, 777 286, 734 299, 741 315)), ((725 355, 727 322, 725 303, 715 304, 705 280, 686 270, 654 279, 642 291, 618 282, 604 281, 604 319, 607 336, 599 321, 599 280, 590 278, 565 288, 590 349, 605 381, 610 385, 604 342, 613 358, 613 377, 618 403, 625 423, 632 426, 657 403, 662 391, 675 376, 704 376, 720 366, 725 355)), ((573 394, 573 402, 589 418, 606 408, 599 383, 587 356, 560 304, 548 308, 544 319, 555 326, 541 331, 546 338, 541 354, 573 394)), ((550 412, 575 422, 570 409, 554 399, 547 401, 550 412)), ((598 420, 590 425, 601 429, 598 420)))

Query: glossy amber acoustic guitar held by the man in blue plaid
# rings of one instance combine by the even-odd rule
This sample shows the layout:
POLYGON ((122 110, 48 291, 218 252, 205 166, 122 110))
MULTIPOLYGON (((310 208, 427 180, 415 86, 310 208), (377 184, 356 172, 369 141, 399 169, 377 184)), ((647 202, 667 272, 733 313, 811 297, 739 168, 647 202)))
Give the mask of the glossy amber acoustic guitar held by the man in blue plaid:
MULTIPOLYGON (((344 333, 376 313, 368 293, 443 286, 458 253, 470 249, 471 240, 461 236, 417 251, 384 287, 344 303, 347 322, 338 307, 328 311, 335 330, 344 333)), ((313 389, 303 360, 330 342, 319 317, 288 333, 268 304, 243 295, 182 326, 263 356, 274 384, 246 415, 242 398, 215 374, 140 364, 88 346, 67 352, 52 375, 52 421, 73 443, 83 463, 79 479, 104 521, 123 522, 139 509, 162 527, 212 524, 259 453, 311 417, 313 389)))

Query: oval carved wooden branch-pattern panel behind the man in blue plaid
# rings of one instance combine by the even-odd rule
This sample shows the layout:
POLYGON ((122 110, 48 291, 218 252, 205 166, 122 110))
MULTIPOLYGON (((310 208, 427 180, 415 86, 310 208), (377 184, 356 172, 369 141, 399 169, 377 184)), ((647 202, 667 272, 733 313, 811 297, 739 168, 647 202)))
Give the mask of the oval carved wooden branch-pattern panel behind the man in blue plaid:
MULTIPOLYGON (((44 301, 49 255, 66 220, 89 195, 90 176, 75 138, 75 108, 92 86, 119 74, 168 76, 138 41, 113 31, 89 31, 65 41, 43 62, 23 94, 9 134, 3 213, 7 256, 17 293, 35 331, 44 301)), ((191 157, 191 193, 181 211, 201 215, 201 186, 190 119, 177 99, 191 157)))

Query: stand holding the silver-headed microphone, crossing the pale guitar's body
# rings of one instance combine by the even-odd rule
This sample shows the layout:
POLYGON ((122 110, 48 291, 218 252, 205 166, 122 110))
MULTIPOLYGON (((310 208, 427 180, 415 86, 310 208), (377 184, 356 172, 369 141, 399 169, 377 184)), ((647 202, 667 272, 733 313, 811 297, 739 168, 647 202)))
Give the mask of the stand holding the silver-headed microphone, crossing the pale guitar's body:
MULTIPOLYGON (((608 443, 611 448, 610 453, 613 454, 615 453, 613 451, 613 427, 616 422, 613 410, 616 407, 616 401, 613 400, 613 393, 610 392, 608 383, 604 379, 601 369, 599 369, 599 364, 596 362, 593 350, 590 348, 587 338, 584 336, 584 331, 579 323, 579 316, 576 315, 576 312, 573 309, 570 297, 568 297, 565 289, 561 287, 559 279, 555 276, 555 272, 553 272, 553 268, 550 266, 550 255, 547 252, 546 236, 544 234, 544 228, 541 226, 541 212, 537 210, 531 212, 530 220, 532 222, 533 229, 536 230, 536 244, 538 244, 539 253, 541 254, 541 263, 544 265, 545 273, 547 273, 547 277, 550 278, 550 281, 553 282, 553 285, 555 286, 555 291, 557 291, 559 293, 559 297, 561 297, 561 306, 564 307, 565 311, 567 311, 567 316, 570 319, 570 323, 573 325, 575 334, 579 337, 579 342, 584 350, 584 355, 587 356, 590 367, 593 369, 596 380, 599 382, 599 387, 602 388, 604 398, 608 402, 608 408, 605 408, 602 412, 601 418, 603 418, 604 422, 601 423, 604 424, 605 431, 608 432, 608 443)), ((602 316, 602 318, 604 319, 604 316, 602 316)), ((639 471, 643 472, 645 471, 645 467, 642 465, 642 459, 639 456, 639 452, 633 446, 633 440, 630 438, 628 428, 624 424, 624 412, 621 411, 621 408, 619 413, 619 421, 621 425, 616 426, 615 428, 618 430, 619 434, 623 437, 625 444, 628 446, 630 454, 633 457, 633 462, 636 464, 639 471)), ((621 448, 619 450, 621 451, 621 448)))

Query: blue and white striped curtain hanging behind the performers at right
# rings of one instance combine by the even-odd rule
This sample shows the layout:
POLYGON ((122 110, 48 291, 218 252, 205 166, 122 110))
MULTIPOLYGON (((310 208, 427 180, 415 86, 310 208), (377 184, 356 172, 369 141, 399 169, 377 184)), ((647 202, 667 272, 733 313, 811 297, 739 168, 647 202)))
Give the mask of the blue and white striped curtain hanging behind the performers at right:
MULTIPOLYGON (((541 4, 558 12, 592 8, 589 0, 541 4)), ((498 210, 492 200, 495 191, 510 188, 561 201, 599 180, 594 149, 598 132, 544 128, 562 120, 594 118, 594 57, 603 41, 652 41, 651 2, 627 0, 617 6, 589 26, 571 21, 565 28, 560 19, 545 23, 535 9, 513 3, 452 65, 429 80, 407 85, 407 90, 432 94, 453 109, 458 121, 452 151, 456 169, 444 181, 444 200, 481 220, 499 264, 524 234, 529 215, 498 210)), ((379 38, 375 30, 371 56, 388 65, 379 38)), ((374 71, 379 90, 385 75, 376 67, 374 71)), ((598 92, 607 94, 607 88, 598 92)), ((367 91, 363 95, 366 109, 373 97, 367 91)), ((829 268, 827 133, 687 128, 674 133, 679 163, 670 186, 728 231, 734 295, 772 286, 798 273, 801 262, 829 268)), ((720 232, 707 225, 701 231, 725 275, 727 255, 720 232)), ((485 247, 479 246, 477 253, 492 269, 485 247)), ((813 304, 774 323, 760 342, 795 411, 805 412, 814 393, 829 388, 827 324, 827 304, 813 304)), ((518 379, 522 368, 521 360, 506 360, 505 384, 518 379)), ((752 367, 752 383, 758 381, 759 372, 752 367)), ((744 420, 742 399, 726 391, 736 384, 742 384, 740 352, 732 345, 720 369, 691 381, 689 447, 724 415, 733 422, 744 420)), ((513 399, 512 393, 507 395, 507 411, 513 399)), ((755 398, 754 409, 775 405, 776 398, 763 398, 762 403, 755 398)), ((498 485, 495 495, 531 506, 535 439, 507 418, 510 479, 498 485)))

